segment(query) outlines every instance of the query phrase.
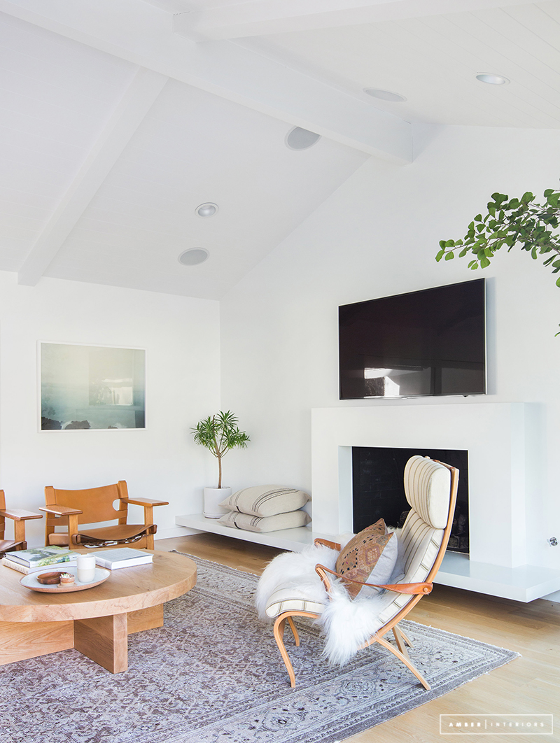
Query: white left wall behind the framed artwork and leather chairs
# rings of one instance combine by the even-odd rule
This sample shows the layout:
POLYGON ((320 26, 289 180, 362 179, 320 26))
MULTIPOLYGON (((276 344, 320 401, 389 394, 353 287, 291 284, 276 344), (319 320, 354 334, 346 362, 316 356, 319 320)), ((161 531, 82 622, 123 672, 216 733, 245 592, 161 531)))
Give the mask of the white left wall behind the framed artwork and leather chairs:
MULTIPOLYGON (((176 514, 202 509, 215 463, 189 429, 219 409, 218 302, 57 279, 25 287, 15 273, 1 272, 0 380, 0 477, 8 507, 36 510, 45 503, 45 485, 123 479, 131 497, 170 502, 155 510, 158 536, 177 532, 176 514), (147 428, 40 432, 40 340, 145 348, 147 428)), ((142 522, 141 508, 132 506, 131 516, 142 522)), ((30 545, 41 545, 44 521, 27 526, 30 545)))

